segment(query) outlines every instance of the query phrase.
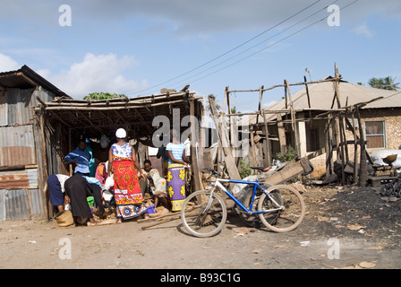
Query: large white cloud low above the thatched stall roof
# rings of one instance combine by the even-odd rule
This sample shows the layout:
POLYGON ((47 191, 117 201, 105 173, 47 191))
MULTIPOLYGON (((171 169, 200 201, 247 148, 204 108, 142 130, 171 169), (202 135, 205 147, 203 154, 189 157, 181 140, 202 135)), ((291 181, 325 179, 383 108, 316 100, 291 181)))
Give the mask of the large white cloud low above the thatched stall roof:
POLYGON ((91 92, 130 93, 147 85, 128 80, 122 72, 137 63, 133 57, 118 58, 115 54, 94 55, 87 53, 80 63, 74 63, 68 71, 49 76, 49 81, 76 99, 91 92))

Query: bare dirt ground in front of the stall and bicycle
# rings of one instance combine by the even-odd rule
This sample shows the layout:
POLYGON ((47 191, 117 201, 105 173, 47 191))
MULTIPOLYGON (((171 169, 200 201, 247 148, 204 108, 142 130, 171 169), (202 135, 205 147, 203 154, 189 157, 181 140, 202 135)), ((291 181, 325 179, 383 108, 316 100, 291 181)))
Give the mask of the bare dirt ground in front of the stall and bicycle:
POLYGON ((401 268, 401 200, 371 187, 310 187, 304 221, 288 233, 245 227, 229 213, 215 237, 190 236, 180 220, 57 227, 0 222, 0 268, 394 269, 401 268), (70 252, 71 251, 71 252, 70 252))

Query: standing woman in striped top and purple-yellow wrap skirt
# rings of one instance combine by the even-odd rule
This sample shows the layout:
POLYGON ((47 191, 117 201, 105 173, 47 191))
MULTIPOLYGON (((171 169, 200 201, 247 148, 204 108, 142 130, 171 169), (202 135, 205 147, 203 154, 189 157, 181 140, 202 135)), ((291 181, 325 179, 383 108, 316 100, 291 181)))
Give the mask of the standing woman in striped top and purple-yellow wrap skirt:
POLYGON ((183 208, 185 200, 185 167, 188 159, 185 155, 185 146, 180 143, 179 133, 171 131, 171 143, 167 143, 168 154, 167 190, 171 198, 172 211, 178 212, 183 208))

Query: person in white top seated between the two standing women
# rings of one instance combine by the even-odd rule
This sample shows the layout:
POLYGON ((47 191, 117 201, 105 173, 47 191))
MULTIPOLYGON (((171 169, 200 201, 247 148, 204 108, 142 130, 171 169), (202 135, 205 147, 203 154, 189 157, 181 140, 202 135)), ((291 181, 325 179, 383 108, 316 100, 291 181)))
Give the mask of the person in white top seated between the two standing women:
POLYGON ((166 193, 166 179, 160 177, 158 170, 152 169, 152 163, 149 160, 143 162, 144 170, 148 173, 149 187, 155 196, 155 209, 160 201, 167 209, 171 210, 170 198, 166 193))

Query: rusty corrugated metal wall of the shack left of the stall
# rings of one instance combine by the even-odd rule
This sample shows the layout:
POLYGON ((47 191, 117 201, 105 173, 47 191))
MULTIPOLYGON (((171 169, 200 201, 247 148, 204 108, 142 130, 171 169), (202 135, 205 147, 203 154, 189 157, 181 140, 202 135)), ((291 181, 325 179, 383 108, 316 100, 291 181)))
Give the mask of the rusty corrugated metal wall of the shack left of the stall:
MULTIPOLYGON (((55 98, 53 93, 42 89, 0 92, 0 167, 26 168, 0 172, 0 221, 46 217, 47 204, 42 190, 46 178, 41 170, 40 129, 33 109, 37 96, 45 102, 55 98)), ((53 170, 55 154, 50 153, 50 146, 47 151, 47 161, 53 170)))

